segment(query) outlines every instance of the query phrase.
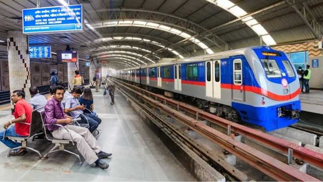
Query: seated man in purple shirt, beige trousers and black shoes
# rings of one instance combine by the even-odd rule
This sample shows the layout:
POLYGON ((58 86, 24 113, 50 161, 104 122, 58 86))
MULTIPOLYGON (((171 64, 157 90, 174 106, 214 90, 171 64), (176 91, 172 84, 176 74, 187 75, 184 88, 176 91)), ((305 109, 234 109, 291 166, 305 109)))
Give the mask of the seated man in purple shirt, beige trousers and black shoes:
MULTIPOLYGON (((98 141, 94 138, 92 133, 86 128, 68 125, 72 122, 71 117, 63 112, 61 101, 64 97, 64 87, 58 85, 53 88, 54 97, 50 99, 45 106, 45 122, 46 124, 60 124, 71 133, 73 141, 77 143, 78 151, 85 158, 88 164, 95 163, 101 169, 107 169, 109 164, 100 160, 109 157, 112 154, 107 154, 101 151, 98 141)), ((57 125, 48 125, 47 129, 57 139, 70 139, 68 132, 57 125)))

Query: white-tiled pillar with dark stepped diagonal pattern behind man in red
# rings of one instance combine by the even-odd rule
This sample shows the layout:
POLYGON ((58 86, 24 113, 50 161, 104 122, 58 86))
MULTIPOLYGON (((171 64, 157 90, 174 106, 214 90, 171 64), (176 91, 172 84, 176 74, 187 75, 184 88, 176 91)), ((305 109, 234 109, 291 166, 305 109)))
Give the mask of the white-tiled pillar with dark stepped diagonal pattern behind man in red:
MULTIPOLYGON (((30 63, 27 35, 12 30, 7 33, 10 96, 14 90, 24 90, 26 100, 30 99, 30 63)), ((14 104, 11 102, 11 111, 14 104)))

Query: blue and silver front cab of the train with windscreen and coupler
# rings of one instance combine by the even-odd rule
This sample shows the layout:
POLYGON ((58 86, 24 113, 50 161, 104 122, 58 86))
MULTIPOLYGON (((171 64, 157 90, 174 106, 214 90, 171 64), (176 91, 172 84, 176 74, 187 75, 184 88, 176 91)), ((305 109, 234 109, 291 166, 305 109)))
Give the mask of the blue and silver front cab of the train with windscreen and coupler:
MULTIPOLYGON (((296 123, 301 109, 299 81, 286 54, 262 46, 247 49, 244 56, 245 102, 232 102, 241 120, 263 126, 267 131, 296 123)), ((238 64, 234 66, 241 66, 238 64)))

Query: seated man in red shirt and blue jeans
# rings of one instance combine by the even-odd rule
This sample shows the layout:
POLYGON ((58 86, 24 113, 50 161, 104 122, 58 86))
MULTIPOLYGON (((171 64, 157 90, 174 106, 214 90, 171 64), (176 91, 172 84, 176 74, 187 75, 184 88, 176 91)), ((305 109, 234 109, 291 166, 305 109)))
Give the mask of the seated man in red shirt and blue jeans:
MULTIPOLYGON (((6 132, 5 130, 0 131, 0 141, 10 148, 16 148, 21 146, 21 143, 14 142, 7 138, 3 139, 3 135, 5 133, 5 136, 16 136, 16 137, 29 136, 31 113, 33 112, 33 109, 25 100, 25 92, 22 90, 13 91, 11 100, 16 104, 15 112, 14 112, 15 119, 5 123, 4 128, 6 129, 12 123, 15 123, 15 126, 8 128, 6 132)), ((25 149, 19 149, 10 155, 21 156, 21 155, 25 155, 26 153, 27 151, 25 149)))

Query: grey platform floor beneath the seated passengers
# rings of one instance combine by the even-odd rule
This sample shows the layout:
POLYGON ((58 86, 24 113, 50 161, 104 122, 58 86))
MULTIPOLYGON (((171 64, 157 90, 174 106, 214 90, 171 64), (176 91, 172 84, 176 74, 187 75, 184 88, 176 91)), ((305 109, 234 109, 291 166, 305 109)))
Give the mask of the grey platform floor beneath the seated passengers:
MULTIPOLYGON (((0 181, 196 181, 167 149, 161 140, 145 125, 129 102, 116 90, 115 105, 94 92, 94 108, 102 119, 101 134, 97 137, 105 152, 112 157, 107 170, 93 167, 71 154, 58 152, 40 160, 29 151, 25 156, 6 157, 8 148, 0 143, 0 181)), ((12 117, 10 108, 0 110, 0 127, 12 117)), ((46 140, 28 145, 45 154, 52 146, 46 140)), ((76 147, 66 147, 78 153, 76 147)), ((78 153, 79 154, 79 153, 78 153)))

